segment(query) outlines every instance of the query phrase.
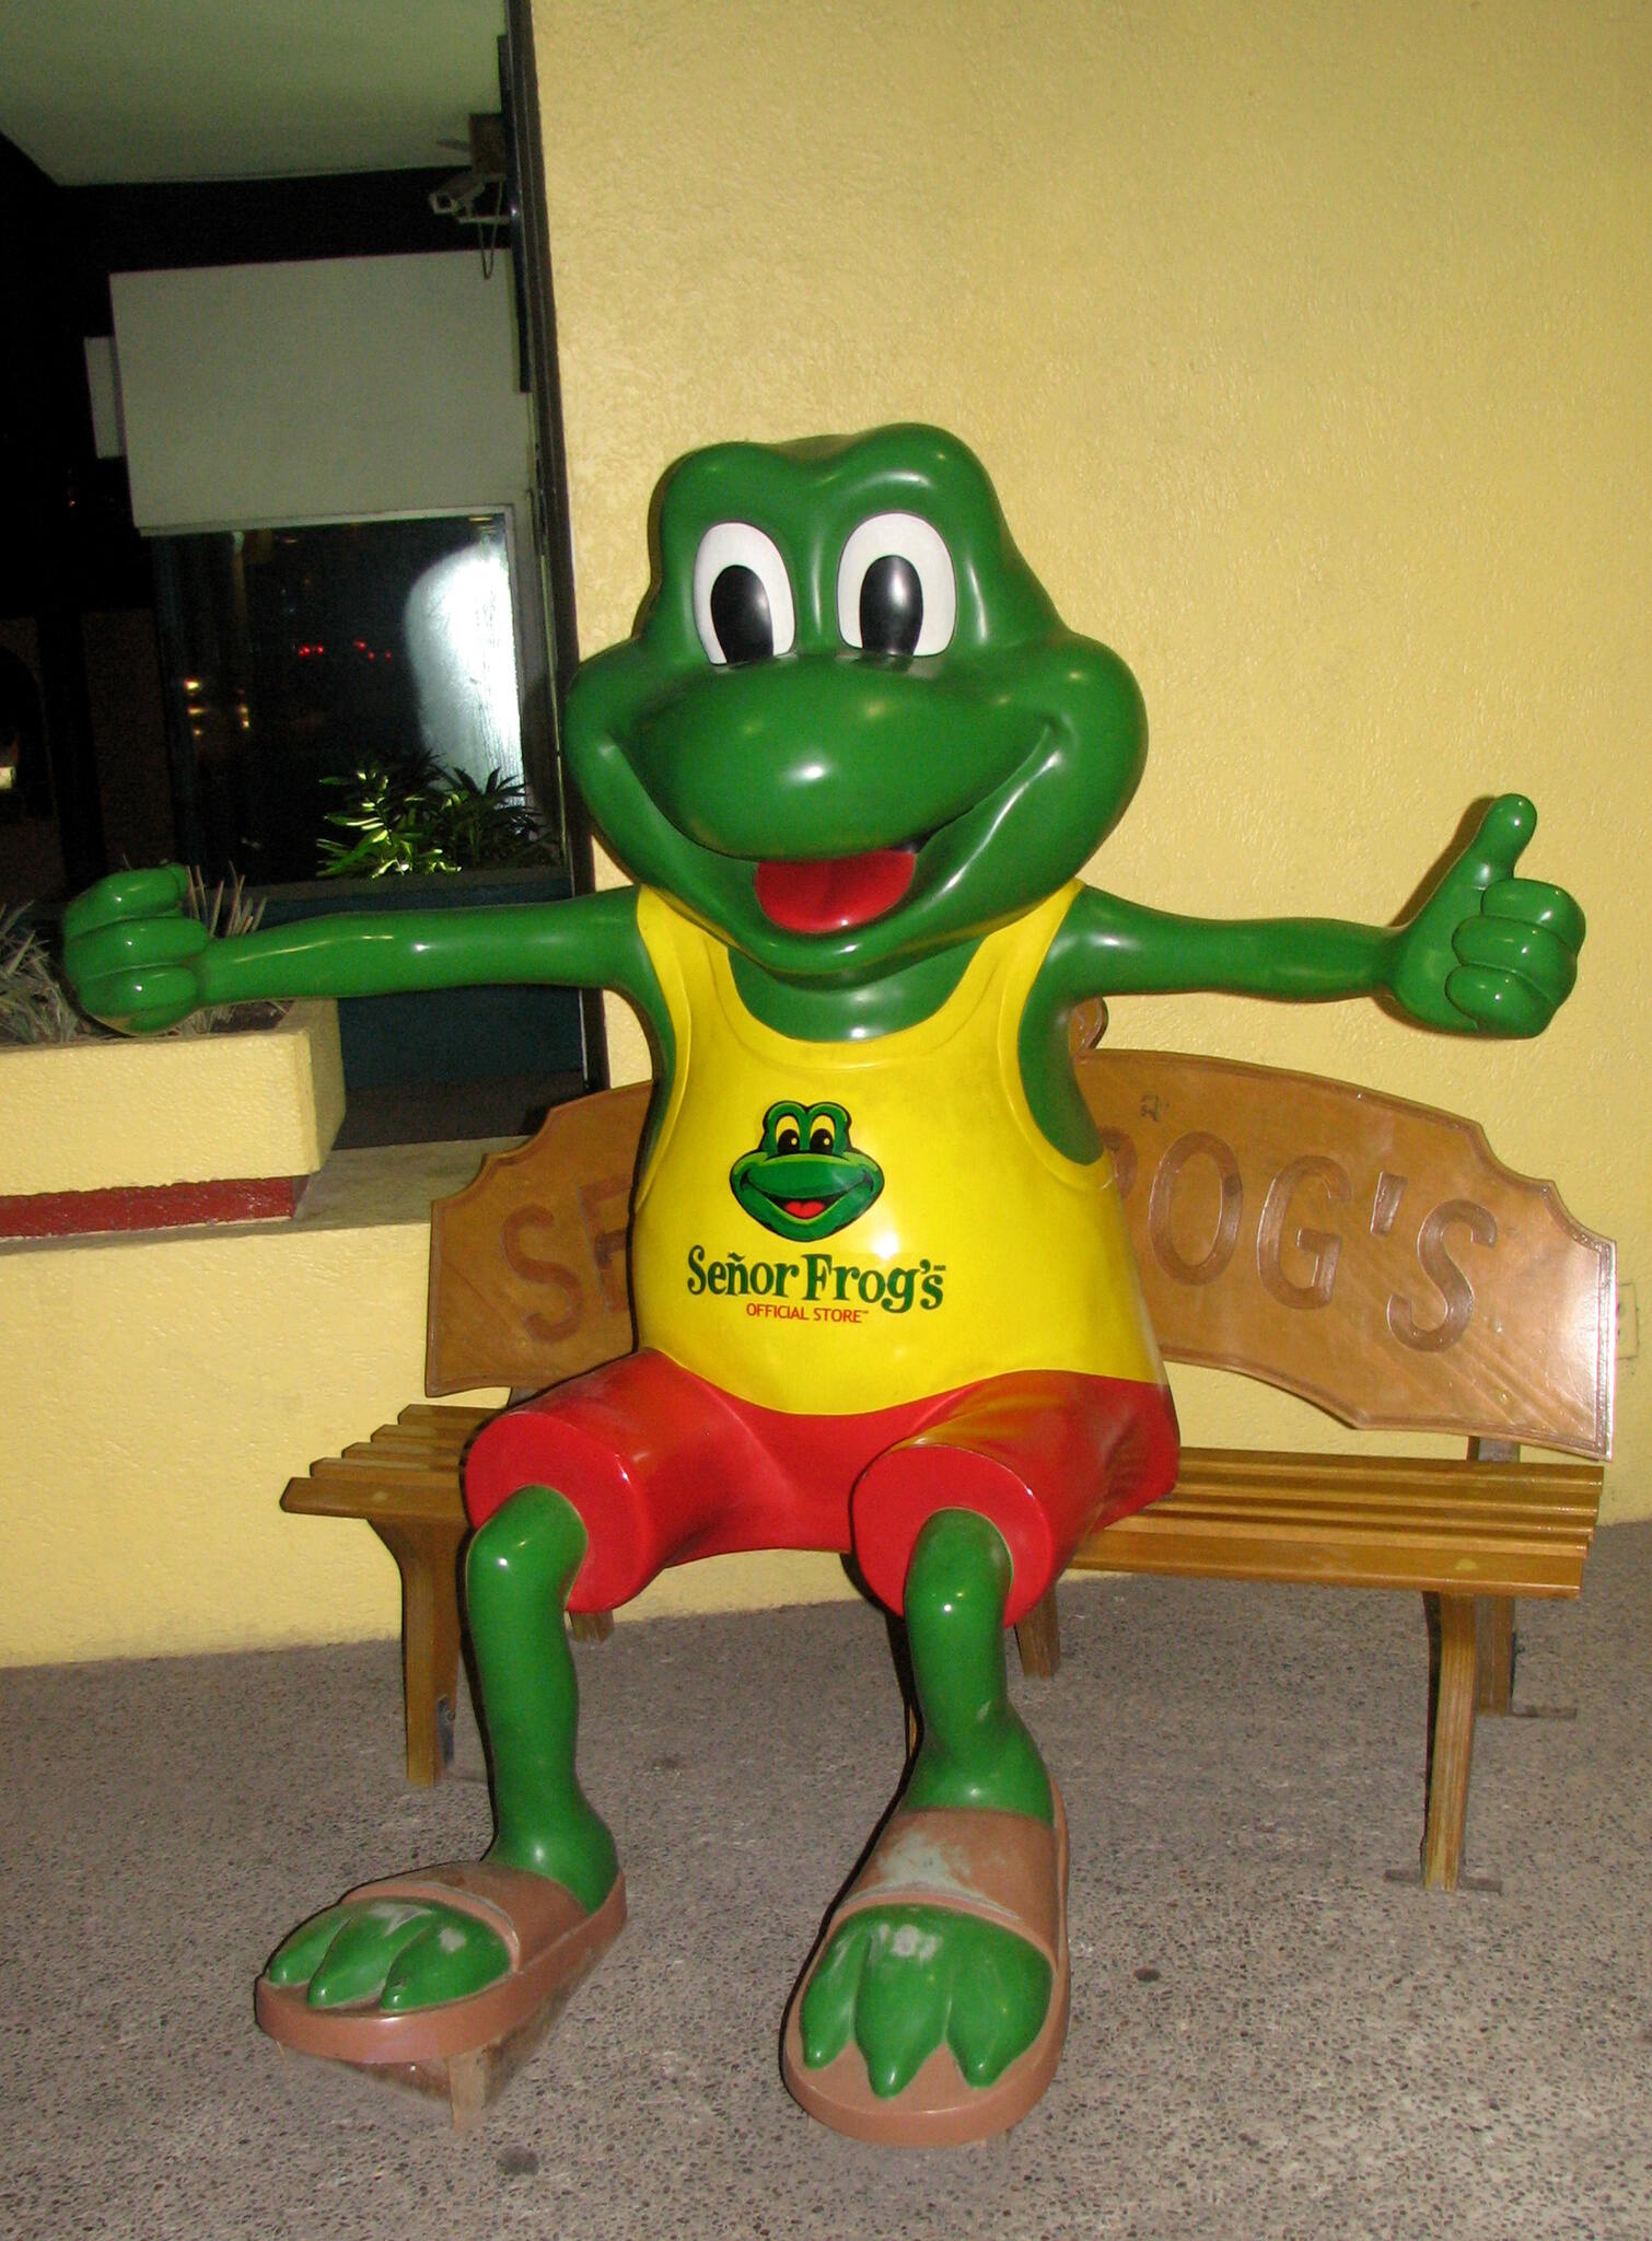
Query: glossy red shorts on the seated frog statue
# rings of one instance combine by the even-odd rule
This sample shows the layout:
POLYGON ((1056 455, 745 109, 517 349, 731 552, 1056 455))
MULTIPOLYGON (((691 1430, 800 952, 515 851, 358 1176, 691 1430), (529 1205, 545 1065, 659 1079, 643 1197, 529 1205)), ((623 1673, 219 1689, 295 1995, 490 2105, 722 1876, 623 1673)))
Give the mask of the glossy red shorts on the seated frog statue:
POLYGON ((867 1416, 789 1416, 735 1401, 663 1354, 628 1354, 495 1416, 464 1466, 471 1524, 551 1486, 590 1549, 572 1611, 612 1611, 668 1564, 735 1549, 854 1555, 892 1611, 937 1510, 991 1517, 1015 1625, 1078 1542, 1177 1477, 1163 1385, 1015 1371, 867 1416))

